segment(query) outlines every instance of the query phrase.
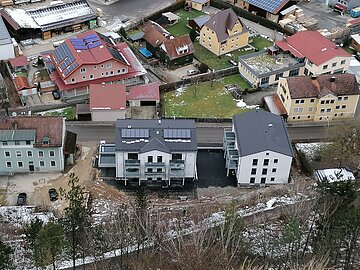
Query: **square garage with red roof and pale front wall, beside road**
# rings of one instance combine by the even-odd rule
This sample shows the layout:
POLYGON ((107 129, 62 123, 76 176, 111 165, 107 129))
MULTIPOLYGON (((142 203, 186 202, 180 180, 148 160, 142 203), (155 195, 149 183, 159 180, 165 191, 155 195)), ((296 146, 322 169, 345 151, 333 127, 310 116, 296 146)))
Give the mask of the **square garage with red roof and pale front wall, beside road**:
POLYGON ((90 84, 89 110, 92 121, 125 119, 126 87, 124 84, 90 84))

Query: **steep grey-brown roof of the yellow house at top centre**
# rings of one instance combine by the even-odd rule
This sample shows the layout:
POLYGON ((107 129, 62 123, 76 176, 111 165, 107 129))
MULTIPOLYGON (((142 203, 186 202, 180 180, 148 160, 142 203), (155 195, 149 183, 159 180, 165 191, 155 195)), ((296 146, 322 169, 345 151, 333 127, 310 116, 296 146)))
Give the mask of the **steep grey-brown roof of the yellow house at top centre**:
MULTIPOLYGON (((213 30, 218 38, 218 41, 224 41, 229 38, 228 29, 233 29, 235 23, 237 21, 240 21, 239 17, 236 15, 236 13, 231 9, 225 9, 222 11, 219 11, 214 16, 208 20, 204 26, 210 28, 213 30)), ((243 32, 248 31, 245 25, 240 21, 240 23, 243 26, 243 32)), ((241 34, 241 33, 239 33, 241 34)))

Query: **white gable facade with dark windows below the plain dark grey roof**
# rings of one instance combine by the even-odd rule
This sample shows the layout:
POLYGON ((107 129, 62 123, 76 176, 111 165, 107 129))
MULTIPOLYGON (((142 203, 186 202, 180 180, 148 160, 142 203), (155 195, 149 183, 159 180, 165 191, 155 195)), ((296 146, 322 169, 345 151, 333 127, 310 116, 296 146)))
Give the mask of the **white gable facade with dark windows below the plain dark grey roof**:
POLYGON ((239 185, 288 183, 291 162, 291 156, 273 151, 239 157, 237 182, 239 185))

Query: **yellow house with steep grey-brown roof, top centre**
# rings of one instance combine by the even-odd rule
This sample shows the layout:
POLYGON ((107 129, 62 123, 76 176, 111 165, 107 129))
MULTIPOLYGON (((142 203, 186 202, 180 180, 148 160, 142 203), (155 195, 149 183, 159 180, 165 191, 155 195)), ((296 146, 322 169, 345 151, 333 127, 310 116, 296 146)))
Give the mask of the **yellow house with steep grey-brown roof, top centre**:
POLYGON ((201 27, 199 42, 219 56, 248 45, 249 32, 229 8, 216 13, 201 27))

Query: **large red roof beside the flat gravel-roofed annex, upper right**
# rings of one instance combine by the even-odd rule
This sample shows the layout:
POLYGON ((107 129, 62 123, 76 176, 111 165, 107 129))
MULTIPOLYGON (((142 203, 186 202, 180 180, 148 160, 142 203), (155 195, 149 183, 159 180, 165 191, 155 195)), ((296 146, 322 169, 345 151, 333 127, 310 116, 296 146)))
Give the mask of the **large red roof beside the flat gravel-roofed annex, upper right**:
POLYGON ((284 41, 276 41, 275 45, 291 53, 298 52, 298 56, 303 55, 315 65, 321 65, 334 57, 351 57, 345 50, 316 31, 297 32, 284 41))

